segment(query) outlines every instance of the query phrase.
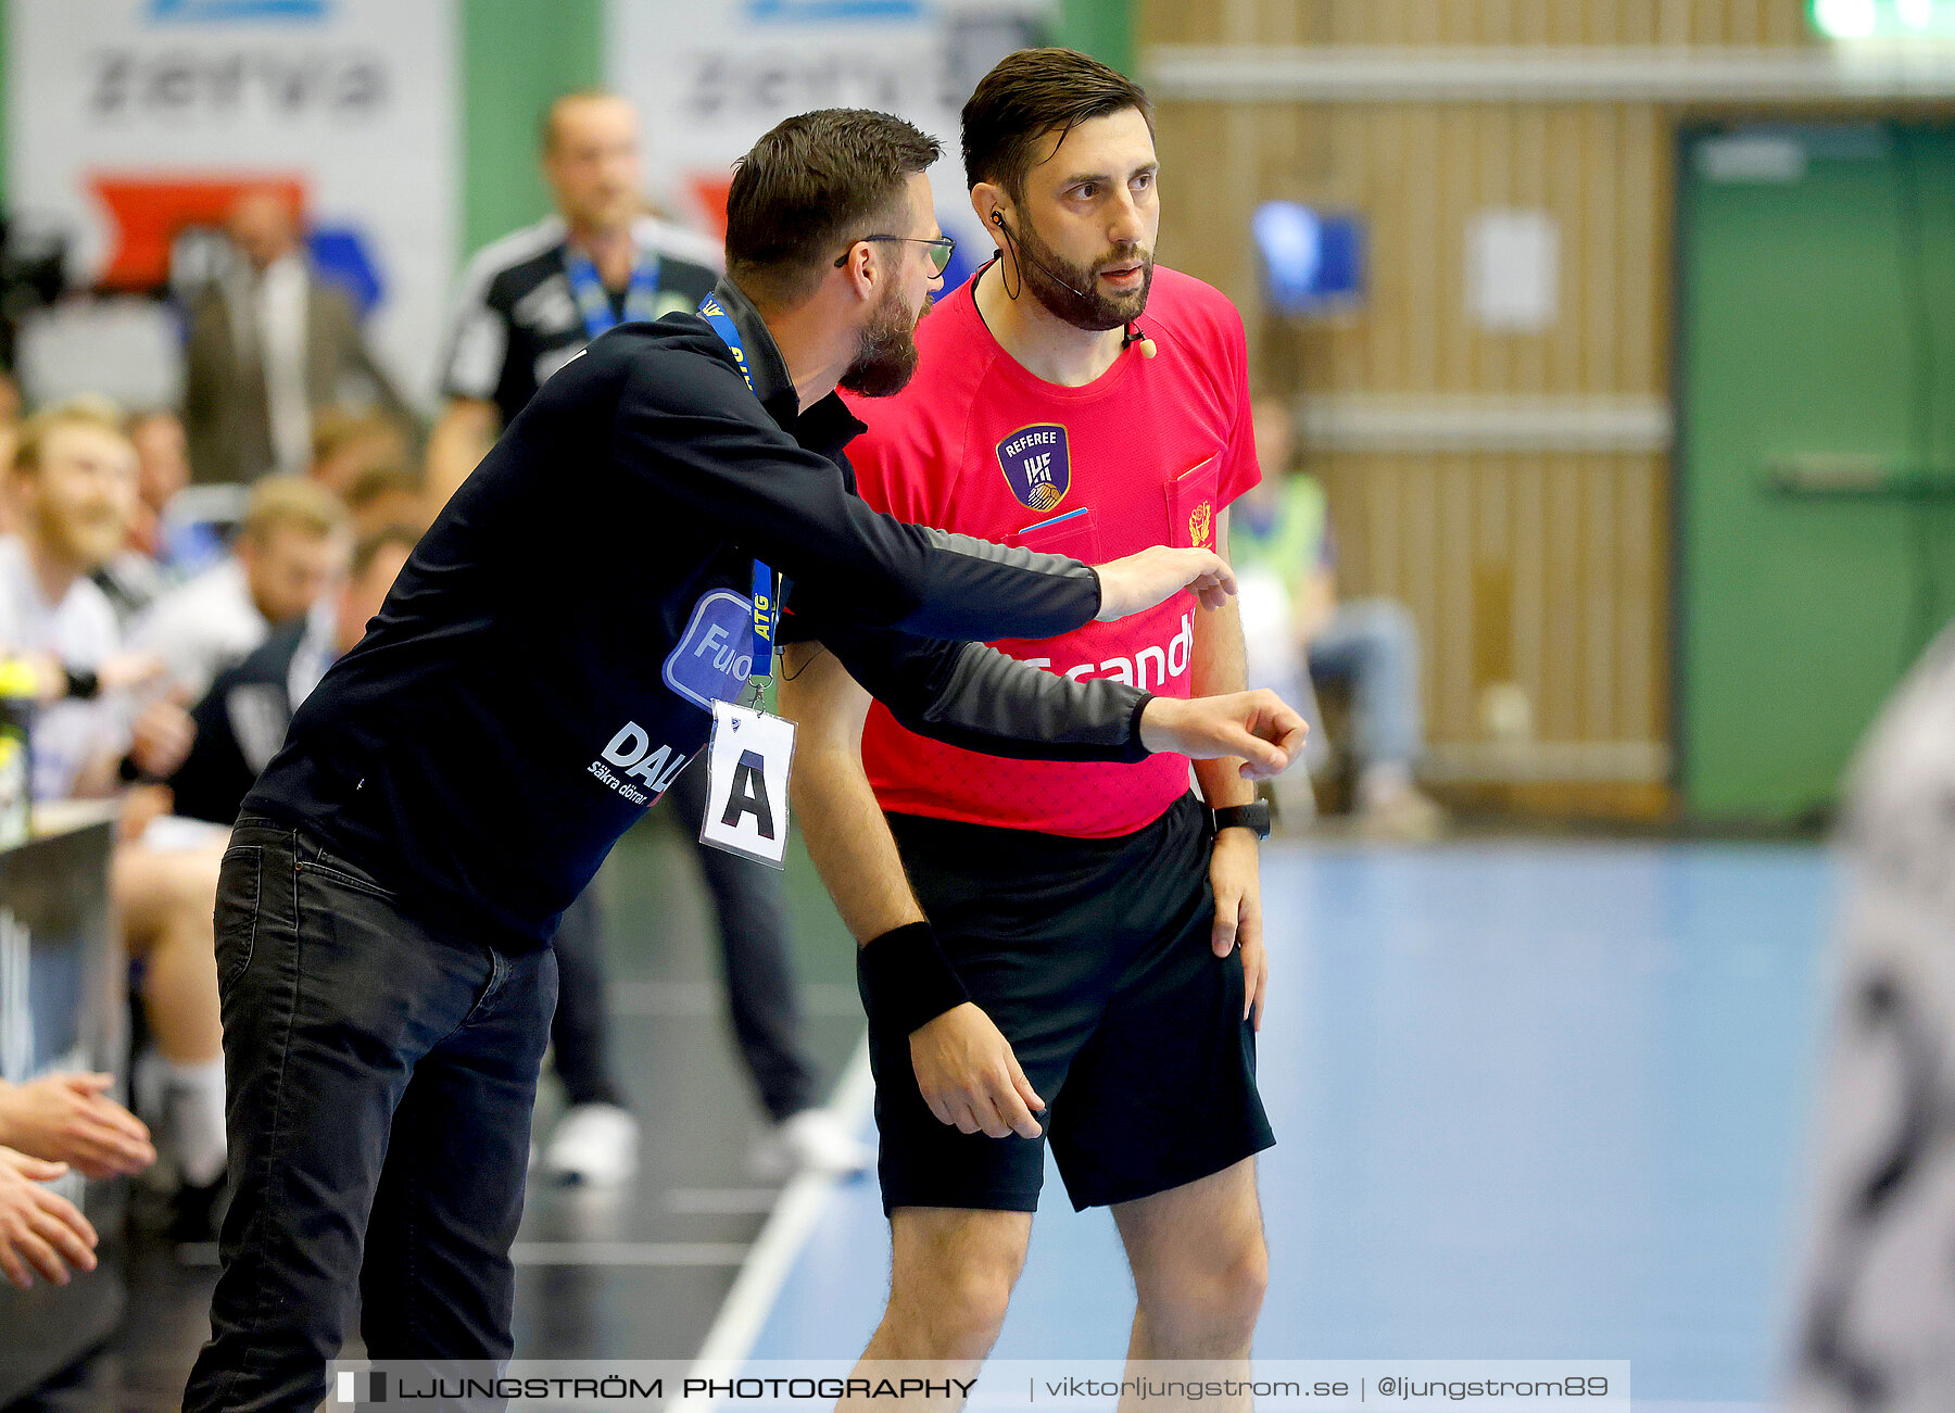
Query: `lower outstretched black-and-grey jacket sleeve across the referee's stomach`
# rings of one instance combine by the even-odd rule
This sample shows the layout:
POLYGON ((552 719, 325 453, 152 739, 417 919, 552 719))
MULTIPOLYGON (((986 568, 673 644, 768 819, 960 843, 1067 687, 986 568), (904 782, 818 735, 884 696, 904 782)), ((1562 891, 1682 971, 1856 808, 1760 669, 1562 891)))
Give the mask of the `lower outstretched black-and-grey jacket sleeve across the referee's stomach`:
POLYGON ((821 641, 864 692, 933 741, 1013 760, 1148 756, 1140 713, 1153 696, 1124 682, 1077 682, 983 643, 895 629, 827 625, 821 641))

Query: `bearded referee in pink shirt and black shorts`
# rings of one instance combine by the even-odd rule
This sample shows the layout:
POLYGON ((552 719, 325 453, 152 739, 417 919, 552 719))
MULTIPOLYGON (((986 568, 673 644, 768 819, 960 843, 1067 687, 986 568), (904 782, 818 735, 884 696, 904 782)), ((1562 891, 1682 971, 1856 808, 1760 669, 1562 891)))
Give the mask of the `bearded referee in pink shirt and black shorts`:
MULTIPOLYGON (((860 494, 1085 561, 1226 545, 1259 479, 1243 326, 1153 264, 1146 94, 1085 55, 1021 51, 964 107, 964 166, 999 258, 917 328, 907 389, 854 403, 860 494)), ((1189 594, 995 647, 1161 696, 1243 686, 1236 608, 1189 594)), ((1269 815, 1241 762, 1195 762, 1202 805, 1185 756, 979 756, 903 729, 809 645, 780 704, 802 723, 809 852, 868 940, 895 1261, 866 1358, 991 1349, 1048 1141, 1073 1206, 1110 1206, 1126 1243, 1128 1354, 1245 1358, 1267 1272, 1253 1155, 1275 1139, 1255 1089, 1269 815)))

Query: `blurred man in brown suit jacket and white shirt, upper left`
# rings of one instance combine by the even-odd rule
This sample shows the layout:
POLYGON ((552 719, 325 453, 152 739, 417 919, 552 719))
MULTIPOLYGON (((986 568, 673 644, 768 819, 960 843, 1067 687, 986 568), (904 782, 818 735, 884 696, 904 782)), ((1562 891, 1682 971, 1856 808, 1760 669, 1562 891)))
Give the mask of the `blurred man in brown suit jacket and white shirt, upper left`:
POLYGON ((190 305, 184 424, 194 477, 303 473, 315 407, 364 395, 411 420, 368 352, 352 301, 311 270, 285 195, 246 192, 229 233, 237 258, 190 305))

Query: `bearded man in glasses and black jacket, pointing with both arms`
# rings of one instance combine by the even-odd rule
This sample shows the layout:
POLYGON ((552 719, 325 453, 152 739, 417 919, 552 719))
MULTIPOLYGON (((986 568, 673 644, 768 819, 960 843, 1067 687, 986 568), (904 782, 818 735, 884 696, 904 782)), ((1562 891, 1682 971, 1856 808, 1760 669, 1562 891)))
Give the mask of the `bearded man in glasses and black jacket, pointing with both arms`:
POLYGON ((1095 571, 868 510, 833 389, 915 367, 938 149, 839 109, 762 145, 706 319, 622 324, 549 379, 244 801, 217 895, 237 1192, 190 1409, 315 1407, 356 1280, 373 1358, 510 1354, 543 942, 708 743, 714 702, 768 668, 741 645, 776 573, 866 688, 946 741, 1267 774, 1302 741, 1269 694, 1150 698, 981 645, 1234 582, 1208 551, 1095 571))

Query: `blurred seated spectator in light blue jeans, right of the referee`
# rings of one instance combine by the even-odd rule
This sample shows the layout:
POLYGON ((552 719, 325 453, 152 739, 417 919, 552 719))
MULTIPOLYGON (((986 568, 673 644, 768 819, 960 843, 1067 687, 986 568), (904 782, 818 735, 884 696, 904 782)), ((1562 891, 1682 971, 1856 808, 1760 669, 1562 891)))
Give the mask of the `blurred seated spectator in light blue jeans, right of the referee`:
MULTIPOLYGON (((1249 686, 1271 688, 1298 706, 1310 721, 1312 768, 1327 752, 1316 688, 1347 688, 1359 823, 1386 838, 1431 838, 1443 815, 1412 780, 1423 739, 1412 614, 1388 598, 1337 598, 1324 487, 1294 467, 1290 408, 1281 401, 1257 399, 1255 444, 1263 483, 1230 516, 1249 686)), ((1308 788, 1302 772, 1277 782, 1279 811, 1292 825, 1312 813, 1308 788)))

